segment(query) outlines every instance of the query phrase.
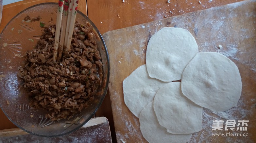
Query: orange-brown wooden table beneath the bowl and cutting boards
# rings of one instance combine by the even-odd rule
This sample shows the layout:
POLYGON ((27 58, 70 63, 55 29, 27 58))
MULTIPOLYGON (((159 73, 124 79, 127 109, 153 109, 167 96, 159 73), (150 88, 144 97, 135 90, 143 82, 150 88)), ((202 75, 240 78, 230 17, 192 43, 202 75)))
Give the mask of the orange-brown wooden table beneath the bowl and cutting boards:
MULTIPOLYGON (((43 2, 57 2, 58 0, 24 0, 3 7, 3 18, 0 31, 8 21, 25 8, 43 2)), ((87 14, 103 34, 115 29, 125 28, 154 20, 164 19, 188 12, 226 5, 241 0, 80 0, 78 9, 87 14)), ((109 119, 112 139, 115 141, 113 116, 110 94, 107 94, 96 115, 109 119)), ((114 113, 113 113, 114 114, 114 113)), ((16 127, 0 111, 0 130, 16 127)), ((118 141, 120 142, 120 141, 118 141)))

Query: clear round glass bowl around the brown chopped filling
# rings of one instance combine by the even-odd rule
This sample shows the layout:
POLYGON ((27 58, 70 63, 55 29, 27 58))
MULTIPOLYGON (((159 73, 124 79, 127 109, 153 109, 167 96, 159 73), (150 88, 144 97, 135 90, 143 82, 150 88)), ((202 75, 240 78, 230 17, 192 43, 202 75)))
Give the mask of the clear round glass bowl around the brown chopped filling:
MULTIPOLYGON (((74 115, 69 120, 52 121, 45 118, 46 110, 33 109, 29 106, 28 92, 21 88, 22 79, 19 78, 18 68, 22 65, 27 50, 35 47, 43 28, 55 24, 57 19, 57 3, 42 3, 31 6, 9 21, 0 34, 0 107, 9 120, 22 130, 37 136, 54 137, 71 133, 88 122, 101 105, 109 83, 109 56, 103 38, 93 22, 80 11, 76 20, 81 24, 90 23, 87 28, 97 33, 98 50, 103 63, 103 79, 99 88, 99 95, 95 95, 89 107, 74 115), (23 19, 29 15, 31 18, 40 16, 40 21, 27 22, 23 19)), ((88 24, 87 24, 88 25, 88 24)))

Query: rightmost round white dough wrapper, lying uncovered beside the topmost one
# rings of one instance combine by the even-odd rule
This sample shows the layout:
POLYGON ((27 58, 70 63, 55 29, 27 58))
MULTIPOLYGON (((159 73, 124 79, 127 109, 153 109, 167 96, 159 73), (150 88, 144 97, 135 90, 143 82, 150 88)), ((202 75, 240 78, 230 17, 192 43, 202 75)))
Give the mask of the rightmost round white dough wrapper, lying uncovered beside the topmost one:
POLYGON ((242 81, 237 66, 224 55, 198 53, 182 74, 181 90, 197 105, 219 113, 236 106, 242 81))

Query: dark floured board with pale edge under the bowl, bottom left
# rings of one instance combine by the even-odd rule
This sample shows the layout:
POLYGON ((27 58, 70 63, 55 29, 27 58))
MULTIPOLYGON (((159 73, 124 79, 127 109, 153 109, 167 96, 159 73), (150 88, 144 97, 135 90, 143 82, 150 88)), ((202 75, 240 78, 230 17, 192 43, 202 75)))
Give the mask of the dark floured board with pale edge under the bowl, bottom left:
POLYGON ((110 126, 106 117, 90 119, 80 129, 65 136, 41 137, 30 135, 20 128, 0 130, 0 143, 6 142, 68 142, 68 143, 112 143, 110 126))

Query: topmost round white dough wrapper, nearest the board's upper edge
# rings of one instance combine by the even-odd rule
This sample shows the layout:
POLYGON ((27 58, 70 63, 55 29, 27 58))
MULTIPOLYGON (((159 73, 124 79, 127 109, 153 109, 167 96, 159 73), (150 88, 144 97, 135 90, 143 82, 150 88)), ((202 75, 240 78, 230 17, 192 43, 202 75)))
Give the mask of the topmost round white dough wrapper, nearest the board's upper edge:
POLYGON ((186 65, 197 52, 196 40, 189 31, 164 27, 152 35, 148 42, 148 74, 164 82, 180 80, 186 65))

